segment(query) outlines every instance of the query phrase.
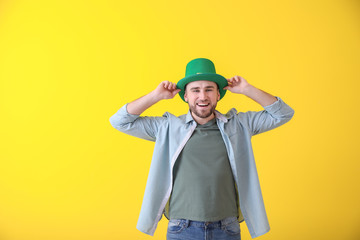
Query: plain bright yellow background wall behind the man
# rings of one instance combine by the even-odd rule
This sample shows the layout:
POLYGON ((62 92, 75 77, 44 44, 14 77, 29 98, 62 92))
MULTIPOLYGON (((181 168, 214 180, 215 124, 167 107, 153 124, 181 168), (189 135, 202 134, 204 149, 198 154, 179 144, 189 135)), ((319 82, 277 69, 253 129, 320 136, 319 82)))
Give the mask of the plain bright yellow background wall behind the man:
MULTIPOLYGON (((360 2, 0 2, 0 239, 165 239, 135 226, 154 144, 112 128, 193 58, 295 110, 253 138, 271 230, 360 239, 360 2)), ((227 93, 226 112, 260 110, 227 93)), ((180 97, 147 115, 186 113, 180 97)), ((241 224, 242 239, 251 239, 241 224)))

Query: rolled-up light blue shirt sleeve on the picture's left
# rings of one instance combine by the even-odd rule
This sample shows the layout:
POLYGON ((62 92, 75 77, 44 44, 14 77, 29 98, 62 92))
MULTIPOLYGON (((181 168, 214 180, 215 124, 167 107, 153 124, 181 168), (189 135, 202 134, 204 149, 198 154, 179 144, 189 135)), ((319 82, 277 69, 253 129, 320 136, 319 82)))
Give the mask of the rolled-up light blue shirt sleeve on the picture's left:
POLYGON ((111 125, 128 135, 155 141, 159 126, 166 121, 166 118, 140 117, 140 115, 130 114, 126 107, 127 104, 110 117, 111 125))

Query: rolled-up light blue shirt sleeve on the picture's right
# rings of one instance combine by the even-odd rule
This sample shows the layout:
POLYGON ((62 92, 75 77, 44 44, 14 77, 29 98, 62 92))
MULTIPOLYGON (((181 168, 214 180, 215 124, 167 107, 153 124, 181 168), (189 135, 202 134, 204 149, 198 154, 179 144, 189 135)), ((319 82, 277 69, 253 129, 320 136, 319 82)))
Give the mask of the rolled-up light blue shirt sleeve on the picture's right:
POLYGON ((281 98, 276 98, 277 101, 265 106, 263 111, 248 111, 238 114, 239 120, 247 126, 252 135, 279 127, 294 116, 294 110, 281 98))

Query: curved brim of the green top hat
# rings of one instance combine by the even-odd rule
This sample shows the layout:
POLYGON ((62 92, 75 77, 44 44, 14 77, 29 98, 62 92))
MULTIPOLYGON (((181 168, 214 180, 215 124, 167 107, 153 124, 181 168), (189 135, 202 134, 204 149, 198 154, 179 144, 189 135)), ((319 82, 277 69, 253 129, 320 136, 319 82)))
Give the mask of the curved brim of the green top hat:
POLYGON ((223 89, 223 88, 228 85, 228 82, 227 82, 225 77, 223 77, 223 76, 221 76, 219 74, 216 74, 216 73, 194 74, 194 75, 184 77, 183 79, 181 79, 176 84, 176 87, 178 89, 181 89, 181 91, 179 92, 179 96, 181 97, 181 99, 184 102, 186 102, 185 99, 184 99, 186 84, 188 84, 190 82, 195 82, 195 81, 211 81, 211 82, 215 82, 219 87, 220 99, 222 99, 225 96, 226 90, 223 89))

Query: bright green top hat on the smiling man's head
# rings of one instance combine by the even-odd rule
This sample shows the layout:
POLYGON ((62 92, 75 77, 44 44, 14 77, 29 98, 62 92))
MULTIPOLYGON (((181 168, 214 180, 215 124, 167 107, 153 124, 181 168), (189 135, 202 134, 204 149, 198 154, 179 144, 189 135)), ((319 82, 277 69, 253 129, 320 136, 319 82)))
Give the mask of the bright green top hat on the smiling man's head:
POLYGON ((223 88, 228 85, 226 78, 216 74, 215 66, 212 61, 206 58, 196 58, 186 65, 185 77, 176 84, 176 87, 181 89, 179 95, 184 102, 186 84, 201 80, 215 82, 219 87, 220 99, 225 96, 226 90, 223 88))

